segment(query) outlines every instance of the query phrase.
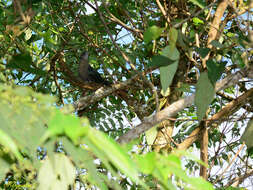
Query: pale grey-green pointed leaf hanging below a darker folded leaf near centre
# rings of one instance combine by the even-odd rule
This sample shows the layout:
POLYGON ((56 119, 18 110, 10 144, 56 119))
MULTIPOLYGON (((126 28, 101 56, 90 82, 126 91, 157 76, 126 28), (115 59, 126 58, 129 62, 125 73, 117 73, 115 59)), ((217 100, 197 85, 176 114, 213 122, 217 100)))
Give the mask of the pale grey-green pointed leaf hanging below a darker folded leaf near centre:
POLYGON ((178 60, 171 65, 160 67, 160 80, 162 84, 162 90, 164 93, 169 88, 174 78, 174 75, 177 71, 177 67, 178 67, 178 60))

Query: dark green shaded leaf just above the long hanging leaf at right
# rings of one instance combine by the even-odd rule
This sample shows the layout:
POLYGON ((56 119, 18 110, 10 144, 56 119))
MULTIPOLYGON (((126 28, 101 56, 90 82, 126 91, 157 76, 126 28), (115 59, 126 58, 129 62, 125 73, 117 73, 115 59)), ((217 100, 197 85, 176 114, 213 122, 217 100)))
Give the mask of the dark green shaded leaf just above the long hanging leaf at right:
POLYGON ((208 70, 208 78, 214 85, 217 80, 220 79, 223 71, 225 70, 226 62, 214 62, 213 60, 208 60, 206 63, 208 70))

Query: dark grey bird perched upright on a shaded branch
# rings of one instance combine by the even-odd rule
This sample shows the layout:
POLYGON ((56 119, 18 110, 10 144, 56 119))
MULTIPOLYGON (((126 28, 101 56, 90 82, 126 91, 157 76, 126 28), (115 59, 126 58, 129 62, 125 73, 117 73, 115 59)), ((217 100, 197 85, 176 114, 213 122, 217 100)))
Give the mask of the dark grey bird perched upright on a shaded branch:
POLYGON ((111 83, 105 80, 101 75, 93 69, 89 64, 89 53, 83 52, 80 57, 78 75, 84 82, 95 82, 102 85, 110 85, 111 83))

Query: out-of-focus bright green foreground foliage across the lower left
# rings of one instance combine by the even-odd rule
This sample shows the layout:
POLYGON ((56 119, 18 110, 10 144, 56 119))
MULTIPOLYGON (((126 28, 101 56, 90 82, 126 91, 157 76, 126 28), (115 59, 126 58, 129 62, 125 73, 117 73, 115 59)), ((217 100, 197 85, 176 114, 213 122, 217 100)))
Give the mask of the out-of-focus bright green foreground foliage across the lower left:
MULTIPOLYGON (((68 189, 68 186, 74 183, 78 169, 81 170, 80 173, 84 173, 78 174, 82 183, 90 183, 101 189, 108 187, 121 189, 115 179, 112 183, 112 179, 107 179, 103 172, 97 171, 97 166, 93 162, 96 156, 117 180, 121 176, 115 168, 143 188, 148 186, 145 184, 145 178, 140 177, 141 173, 156 177, 164 189, 176 189, 171 181, 168 183, 168 175, 171 174, 182 180, 182 186, 188 186, 190 189, 202 187, 213 189, 203 179, 187 176, 179 159, 185 155, 184 153, 160 155, 153 152, 133 155, 131 159, 127 154, 128 149, 120 147, 107 135, 93 129, 87 119, 80 121, 74 115, 64 114, 55 109, 52 102, 50 105, 50 99, 52 98, 34 93, 27 87, 1 86, 1 113, 4 112, 1 114, 3 117, 1 125, 3 131, 0 134, 1 154, 9 155, 1 157, 1 166, 4 166, 1 169, 1 176, 10 170, 13 173, 9 175, 17 182, 20 183, 22 177, 26 178, 20 187, 68 189), (10 115, 14 118, 11 121, 10 115), (46 123, 47 128, 44 126, 46 123), (22 131, 26 135, 22 135, 21 132, 12 133, 17 126, 19 129, 16 131, 22 131), (56 143, 60 143, 61 146, 55 150, 56 143), (44 157, 39 157, 38 154, 40 156, 44 154, 44 157), (18 165, 23 166, 18 169, 21 176, 17 176, 16 171, 12 169, 18 165), (32 179, 28 178, 30 172, 33 172, 33 175, 38 173, 36 181, 35 176, 32 179), (33 181, 31 185, 30 180, 33 181)), ((3 179, 4 177, 1 180, 3 179)), ((2 186, 9 187, 4 183, 2 186)))

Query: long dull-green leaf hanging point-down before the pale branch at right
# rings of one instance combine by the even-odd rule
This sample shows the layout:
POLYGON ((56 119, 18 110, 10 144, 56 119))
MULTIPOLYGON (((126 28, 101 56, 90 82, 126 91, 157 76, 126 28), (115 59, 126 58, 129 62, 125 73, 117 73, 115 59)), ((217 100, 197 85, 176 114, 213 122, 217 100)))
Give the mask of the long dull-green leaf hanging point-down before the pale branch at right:
POLYGON ((209 104, 214 96, 214 87, 208 79, 208 74, 203 72, 200 74, 196 85, 195 105, 197 106, 198 120, 201 121, 206 114, 209 104))

